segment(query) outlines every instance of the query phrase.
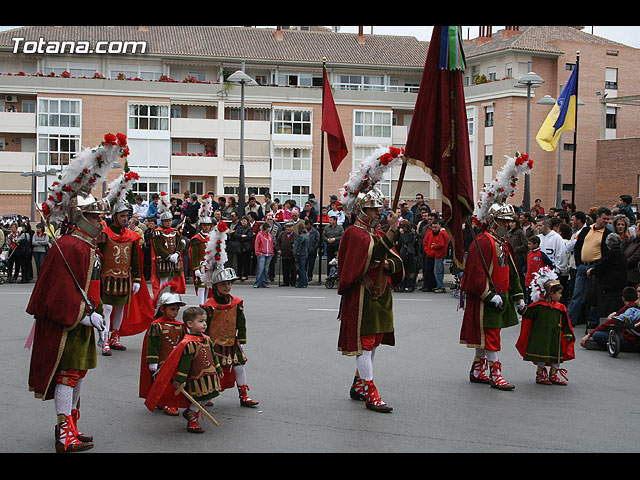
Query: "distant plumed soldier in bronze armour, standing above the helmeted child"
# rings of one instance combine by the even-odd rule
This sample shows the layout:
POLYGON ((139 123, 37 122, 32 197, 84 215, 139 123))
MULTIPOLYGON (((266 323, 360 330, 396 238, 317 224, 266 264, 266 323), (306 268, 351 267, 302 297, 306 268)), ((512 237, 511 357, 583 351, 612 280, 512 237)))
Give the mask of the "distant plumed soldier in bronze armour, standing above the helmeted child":
POLYGON ((169 205, 168 194, 161 192, 158 204, 161 225, 151 233, 151 287, 154 297, 170 281, 180 284, 178 293, 186 291, 182 262, 185 241, 180 231, 171 227, 173 216, 169 205))

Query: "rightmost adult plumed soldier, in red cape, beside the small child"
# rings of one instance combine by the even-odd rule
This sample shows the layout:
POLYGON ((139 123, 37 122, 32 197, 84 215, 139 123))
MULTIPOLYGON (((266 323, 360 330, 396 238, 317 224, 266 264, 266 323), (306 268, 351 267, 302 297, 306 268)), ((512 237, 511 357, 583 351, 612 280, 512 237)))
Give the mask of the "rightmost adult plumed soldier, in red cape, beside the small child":
POLYGON ((499 390, 515 388, 502 376, 498 358, 501 329, 517 325, 516 308, 525 308, 518 270, 507 239, 508 222, 517 216, 506 198, 514 194, 518 175, 532 165, 526 155, 508 158, 496 180, 481 193, 474 222, 483 231, 474 235, 460 285, 465 295, 460 343, 476 352, 469 380, 499 390))

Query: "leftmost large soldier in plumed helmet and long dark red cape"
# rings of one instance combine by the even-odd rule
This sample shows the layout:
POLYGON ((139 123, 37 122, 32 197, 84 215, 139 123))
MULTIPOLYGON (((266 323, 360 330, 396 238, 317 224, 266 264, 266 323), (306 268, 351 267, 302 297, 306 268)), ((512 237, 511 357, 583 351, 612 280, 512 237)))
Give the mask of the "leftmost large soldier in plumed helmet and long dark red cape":
POLYGON ((105 135, 94 149, 74 157, 49 187, 42 214, 64 234, 47 254, 27 313, 35 317, 29 390, 37 398, 54 399, 58 418, 56 452, 93 447, 92 437, 78 431, 80 387, 97 364, 98 345, 107 341, 100 300, 101 255, 96 239, 98 214, 109 212, 106 199, 96 200, 93 184, 105 178, 113 163, 128 154, 126 136, 105 135), (92 214, 92 219, 87 217, 92 214))

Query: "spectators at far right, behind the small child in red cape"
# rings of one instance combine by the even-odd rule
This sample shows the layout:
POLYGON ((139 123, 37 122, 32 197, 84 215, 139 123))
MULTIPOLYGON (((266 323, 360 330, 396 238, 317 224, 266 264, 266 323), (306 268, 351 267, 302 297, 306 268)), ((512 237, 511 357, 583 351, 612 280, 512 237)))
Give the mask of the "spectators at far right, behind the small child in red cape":
MULTIPOLYGON (((561 302, 571 323, 585 324, 580 342, 585 348, 604 348, 599 333, 638 303, 640 214, 631 202, 629 195, 621 195, 612 207, 584 212, 563 201, 560 208, 545 211, 536 199, 531 211, 521 210, 519 221, 511 223, 509 243, 527 295, 533 272, 544 265, 553 268, 564 287, 561 302)), ((627 349, 640 347, 635 338, 640 330, 627 339, 627 349)))

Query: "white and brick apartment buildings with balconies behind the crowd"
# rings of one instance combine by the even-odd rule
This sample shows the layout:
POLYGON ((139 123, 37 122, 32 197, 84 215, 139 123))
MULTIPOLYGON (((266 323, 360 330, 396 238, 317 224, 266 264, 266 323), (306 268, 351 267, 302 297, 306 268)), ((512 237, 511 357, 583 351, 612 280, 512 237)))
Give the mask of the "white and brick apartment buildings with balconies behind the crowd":
MULTIPOLYGON (((526 90, 516 87, 518 79, 533 70, 545 80, 531 99, 533 139, 551 108, 537 101, 558 96, 576 50, 585 92, 576 203, 587 206, 592 196, 584 190, 594 180, 602 110, 595 91, 608 87, 611 93, 615 85, 615 96, 631 95, 640 62, 636 49, 579 27, 507 27, 465 43, 476 192, 504 155, 526 149, 526 90)), ((245 194, 304 202, 309 193, 320 194, 323 170, 326 203, 369 152, 381 144, 404 146, 427 51, 428 42, 413 37, 325 27, 36 26, 0 32, 0 214, 30 215, 32 195, 41 201, 56 170, 106 132, 127 134, 128 164, 140 174, 136 188, 144 196, 181 196, 185 190, 238 195, 241 123, 245 194), (336 172, 327 154, 320 165, 323 57, 349 146, 336 172), (244 122, 241 88, 226 81, 240 69, 257 83, 244 87, 244 122)), ((609 137, 637 136, 632 107, 607 108, 607 125, 616 127, 606 130, 609 137)), ((566 187, 572 134, 564 137, 566 187)), ((530 148, 536 161, 532 196, 551 205, 557 154, 534 140, 530 148)), ((389 196, 399 170, 392 168, 380 186, 389 196)), ((116 166, 111 176, 121 171, 116 166)), ((436 182, 411 166, 401 196, 413 200, 416 193, 440 208, 436 182)))

